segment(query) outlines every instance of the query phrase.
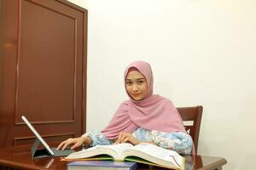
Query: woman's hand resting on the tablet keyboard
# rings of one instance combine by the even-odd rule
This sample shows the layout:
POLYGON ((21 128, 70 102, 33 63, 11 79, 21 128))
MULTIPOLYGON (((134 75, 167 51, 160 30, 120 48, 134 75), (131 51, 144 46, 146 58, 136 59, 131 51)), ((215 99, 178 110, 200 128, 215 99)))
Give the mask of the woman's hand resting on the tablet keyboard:
POLYGON ((57 150, 65 150, 69 144, 73 144, 71 150, 81 146, 82 144, 91 144, 91 139, 87 136, 81 136, 79 138, 67 139, 58 145, 57 150))

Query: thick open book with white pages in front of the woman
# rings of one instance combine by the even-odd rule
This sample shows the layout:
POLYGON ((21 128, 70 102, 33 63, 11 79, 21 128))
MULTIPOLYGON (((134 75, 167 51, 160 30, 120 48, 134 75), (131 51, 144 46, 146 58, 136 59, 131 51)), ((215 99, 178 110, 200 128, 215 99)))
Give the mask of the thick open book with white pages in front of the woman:
POLYGON ((137 161, 158 167, 184 169, 184 158, 176 151, 166 150, 154 144, 128 143, 96 145, 87 150, 73 152, 65 160, 113 160, 137 161))

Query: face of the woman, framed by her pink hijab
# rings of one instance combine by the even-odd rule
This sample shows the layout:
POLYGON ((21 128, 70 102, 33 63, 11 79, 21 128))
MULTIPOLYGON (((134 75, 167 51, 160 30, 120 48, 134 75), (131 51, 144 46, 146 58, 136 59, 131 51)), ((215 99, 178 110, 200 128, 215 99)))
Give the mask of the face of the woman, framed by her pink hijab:
POLYGON ((146 78, 139 71, 130 71, 125 80, 125 88, 134 100, 145 99, 148 93, 146 78))

